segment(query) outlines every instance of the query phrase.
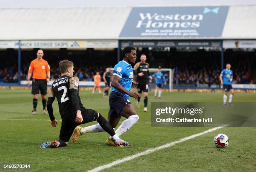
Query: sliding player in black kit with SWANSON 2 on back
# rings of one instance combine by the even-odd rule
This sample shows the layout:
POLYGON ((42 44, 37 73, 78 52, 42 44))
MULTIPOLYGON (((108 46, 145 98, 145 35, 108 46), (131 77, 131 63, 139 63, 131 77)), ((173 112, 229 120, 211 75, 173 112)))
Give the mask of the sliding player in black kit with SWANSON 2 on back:
POLYGON ((86 109, 79 96, 79 79, 73 76, 74 65, 69 60, 59 62, 61 77, 56 79, 51 85, 51 91, 47 101, 47 110, 51 119, 51 125, 56 127, 58 121, 54 118, 52 103, 55 97, 59 104, 59 113, 61 115, 61 130, 59 140, 46 142, 41 145, 42 148, 54 148, 67 146, 74 128, 80 124, 97 121, 99 125, 108 132, 116 146, 127 146, 128 142, 121 140, 115 134, 113 128, 99 112, 86 109))

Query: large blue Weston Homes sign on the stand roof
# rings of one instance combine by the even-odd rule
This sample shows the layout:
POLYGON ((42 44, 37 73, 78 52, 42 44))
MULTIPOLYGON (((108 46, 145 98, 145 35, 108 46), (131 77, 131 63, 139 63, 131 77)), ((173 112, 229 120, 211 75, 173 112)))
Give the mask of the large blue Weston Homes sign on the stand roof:
POLYGON ((220 37, 229 7, 134 7, 120 37, 220 37))

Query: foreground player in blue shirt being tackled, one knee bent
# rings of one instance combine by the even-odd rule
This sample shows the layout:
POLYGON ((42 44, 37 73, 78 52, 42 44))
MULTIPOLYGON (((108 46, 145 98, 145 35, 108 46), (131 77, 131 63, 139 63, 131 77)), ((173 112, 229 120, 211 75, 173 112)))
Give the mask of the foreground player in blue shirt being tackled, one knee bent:
MULTIPOLYGON (((129 97, 138 98, 137 92, 131 92, 131 86, 138 86, 138 83, 133 81, 133 69, 131 63, 135 63, 137 53, 134 47, 125 47, 123 49, 123 60, 118 62, 114 67, 113 80, 111 83, 112 92, 109 96, 110 110, 108 112, 108 122, 115 128, 118 125, 121 117, 127 118, 115 130, 115 134, 122 135, 129 130, 139 117, 134 106, 131 104, 129 97)), ((98 124, 91 125, 81 129, 82 134, 86 132, 103 132, 104 130, 98 124)), ((106 143, 115 146, 115 142, 108 138, 106 143)))

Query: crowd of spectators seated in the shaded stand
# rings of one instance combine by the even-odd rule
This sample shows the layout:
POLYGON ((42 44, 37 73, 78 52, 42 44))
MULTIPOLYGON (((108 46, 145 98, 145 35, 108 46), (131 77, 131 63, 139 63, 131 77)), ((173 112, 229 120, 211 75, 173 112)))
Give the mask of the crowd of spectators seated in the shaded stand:
MULTIPOLYGON (((174 72, 174 84, 183 84, 183 85, 199 85, 199 84, 208 84, 210 85, 219 85, 219 75, 220 68, 215 66, 212 67, 201 67, 203 64, 198 63, 198 65, 187 66, 186 63, 181 67, 177 67, 174 72)), ((75 74, 79 77, 80 81, 93 81, 93 77, 96 72, 100 72, 102 76, 105 72, 107 66, 82 66, 75 67, 75 74)), ((24 70, 20 71, 21 80, 26 80, 27 76, 27 67, 24 67, 24 70)), ((249 84, 251 83, 251 70, 247 65, 239 65, 233 67, 233 83, 236 84, 249 84)), ((51 80, 58 78, 61 75, 58 66, 51 66, 51 80)), ((169 82, 169 72, 164 72, 167 83, 169 82)), ((5 67, 0 70, 0 81, 1 82, 18 82, 18 70, 17 65, 13 67, 5 67)))

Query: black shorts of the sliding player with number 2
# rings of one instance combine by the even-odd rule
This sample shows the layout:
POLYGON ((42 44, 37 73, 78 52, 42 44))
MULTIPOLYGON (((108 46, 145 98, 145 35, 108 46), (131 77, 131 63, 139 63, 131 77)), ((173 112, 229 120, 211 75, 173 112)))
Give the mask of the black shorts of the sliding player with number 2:
POLYGON ((77 113, 74 113, 73 115, 69 117, 64 117, 62 119, 59 139, 63 140, 64 142, 69 142, 69 139, 72 136, 75 127, 88 122, 96 121, 98 118, 98 112, 92 109, 83 109, 81 110, 81 113, 84 120, 82 123, 77 123, 75 121, 77 113))

